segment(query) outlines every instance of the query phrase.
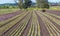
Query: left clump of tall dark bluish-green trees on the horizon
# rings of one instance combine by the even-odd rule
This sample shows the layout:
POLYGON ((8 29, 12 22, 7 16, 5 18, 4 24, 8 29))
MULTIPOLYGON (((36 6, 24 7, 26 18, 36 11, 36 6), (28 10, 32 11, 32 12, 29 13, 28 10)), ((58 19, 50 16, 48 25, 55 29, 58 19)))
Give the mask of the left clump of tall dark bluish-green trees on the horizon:
MULTIPOLYGON (((16 0, 15 0, 15 2, 16 2, 16 0)), ((31 6, 32 1, 31 0, 18 0, 17 4, 18 4, 20 9, 22 9, 22 8, 26 9, 26 8, 31 6)))

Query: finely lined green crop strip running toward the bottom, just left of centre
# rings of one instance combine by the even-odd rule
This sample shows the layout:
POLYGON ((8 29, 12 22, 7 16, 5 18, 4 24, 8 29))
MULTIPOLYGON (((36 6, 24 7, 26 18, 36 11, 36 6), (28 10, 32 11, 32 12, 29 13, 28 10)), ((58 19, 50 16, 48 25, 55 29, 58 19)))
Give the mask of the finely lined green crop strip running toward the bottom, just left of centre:
MULTIPOLYGON (((15 30, 15 31, 13 30, 14 33, 11 34, 11 36, 20 36, 21 33, 24 31, 24 29, 25 29, 25 27, 26 27, 29 19, 30 19, 30 14, 27 15, 26 18, 24 18, 24 19, 19 23, 19 25, 18 25, 19 27, 17 28, 17 30, 15 30)), ((11 32, 11 33, 12 33, 12 32, 11 32)))

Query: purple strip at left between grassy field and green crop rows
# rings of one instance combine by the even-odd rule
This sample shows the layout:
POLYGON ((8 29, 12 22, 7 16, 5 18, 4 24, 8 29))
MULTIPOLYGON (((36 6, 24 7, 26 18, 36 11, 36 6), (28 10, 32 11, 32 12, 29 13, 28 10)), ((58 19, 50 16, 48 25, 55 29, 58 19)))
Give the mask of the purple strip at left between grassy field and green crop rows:
POLYGON ((10 19, 20 13, 22 13, 22 12, 16 11, 16 12, 8 13, 8 14, 2 14, 2 15, 0 15, 0 21, 10 19))

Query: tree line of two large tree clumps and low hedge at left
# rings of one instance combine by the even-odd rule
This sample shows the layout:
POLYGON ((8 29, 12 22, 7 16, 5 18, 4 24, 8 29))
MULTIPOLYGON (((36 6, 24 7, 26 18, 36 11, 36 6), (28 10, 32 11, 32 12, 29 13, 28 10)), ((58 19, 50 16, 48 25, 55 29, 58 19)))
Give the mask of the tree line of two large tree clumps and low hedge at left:
MULTIPOLYGON (((27 9, 30 8, 33 4, 31 0, 18 0, 18 2, 15 0, 15 3, 20 9, 27 9)), ((37 8, 49 8, 48 0, 36 0, 36 7, 37 8)), ((0 8, 18 8, 17 6, 0 6, 0 8)))

